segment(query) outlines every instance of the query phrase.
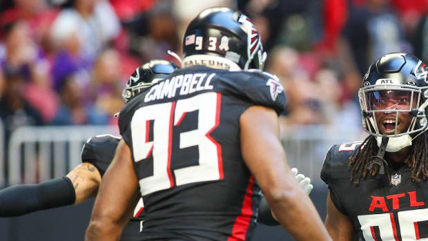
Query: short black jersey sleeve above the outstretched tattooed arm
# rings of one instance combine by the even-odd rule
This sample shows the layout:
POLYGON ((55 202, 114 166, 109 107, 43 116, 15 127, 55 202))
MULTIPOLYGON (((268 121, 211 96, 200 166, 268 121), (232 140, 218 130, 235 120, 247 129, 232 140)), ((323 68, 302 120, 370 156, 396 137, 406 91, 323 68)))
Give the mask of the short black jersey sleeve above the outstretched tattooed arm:
POLYGON ((110 165, 120 137, 114 135, 96 135, 90 137, 81 150, 81 161, 93 164, 104 175, 110 165))

